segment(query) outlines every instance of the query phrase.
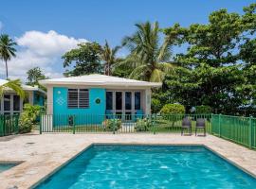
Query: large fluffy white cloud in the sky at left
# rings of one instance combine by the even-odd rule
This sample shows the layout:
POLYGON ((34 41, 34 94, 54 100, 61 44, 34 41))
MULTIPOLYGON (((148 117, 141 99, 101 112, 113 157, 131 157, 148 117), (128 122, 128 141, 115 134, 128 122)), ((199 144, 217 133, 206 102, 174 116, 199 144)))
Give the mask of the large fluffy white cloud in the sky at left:
MULTIPOLYGON (((50 30, 27 31, 16 38, 19 49, 16 57, 8 62, 9 77, 26 80, 27 70, 36 66, 42 68, 47 77, 61 77, 63 64, 61 57, 64 53, 75 48, 78 43, 88 42, 85 39, 75 39, 50 30), (58 64, 58 66, 56 66, 58 64)), ((5 76, 5 66, 0 67, 0 75, 5 76)))

